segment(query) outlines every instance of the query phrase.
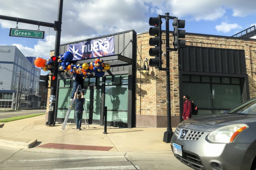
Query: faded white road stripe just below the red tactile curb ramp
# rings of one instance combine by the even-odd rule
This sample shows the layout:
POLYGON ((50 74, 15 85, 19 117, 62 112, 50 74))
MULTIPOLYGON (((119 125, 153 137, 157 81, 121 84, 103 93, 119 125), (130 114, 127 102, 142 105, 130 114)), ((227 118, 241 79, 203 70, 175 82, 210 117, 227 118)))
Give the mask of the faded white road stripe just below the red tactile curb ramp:
POLYGON ((8 162, 39 162, 39 161, 58 161, 58 160, 88 160, 88 159, 108 159, 108 158, 125 158, 124 156, 88 156, 74 158, 50 158, 50 159, 34 159, 34 160, 8 160, 8 162))

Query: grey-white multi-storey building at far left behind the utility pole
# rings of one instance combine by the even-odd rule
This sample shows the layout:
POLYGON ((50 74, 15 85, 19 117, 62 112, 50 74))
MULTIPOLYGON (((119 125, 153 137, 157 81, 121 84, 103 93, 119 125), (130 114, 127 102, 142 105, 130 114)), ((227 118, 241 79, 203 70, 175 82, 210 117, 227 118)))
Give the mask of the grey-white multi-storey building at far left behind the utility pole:
POLYGON ((20 108, 40 107, 40 69, 35 59, 25 57, 16 46, 0 46, 0 108, 15 108, 20 71, 20 108))

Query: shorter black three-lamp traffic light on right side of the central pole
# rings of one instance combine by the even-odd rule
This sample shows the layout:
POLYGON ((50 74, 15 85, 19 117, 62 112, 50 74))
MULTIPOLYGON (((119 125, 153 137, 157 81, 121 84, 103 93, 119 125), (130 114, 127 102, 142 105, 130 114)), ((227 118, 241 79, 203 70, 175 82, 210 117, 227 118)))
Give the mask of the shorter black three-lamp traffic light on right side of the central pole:
POLYGON ((179 38, 185 38, 185 29, 179 29, 179 28, 185 28, 185 20, 178 20, 178 18, 173 19, 173 46, 175 49, 178 49, 179 47, 185 47, 186 40, 180 40, 179 38))

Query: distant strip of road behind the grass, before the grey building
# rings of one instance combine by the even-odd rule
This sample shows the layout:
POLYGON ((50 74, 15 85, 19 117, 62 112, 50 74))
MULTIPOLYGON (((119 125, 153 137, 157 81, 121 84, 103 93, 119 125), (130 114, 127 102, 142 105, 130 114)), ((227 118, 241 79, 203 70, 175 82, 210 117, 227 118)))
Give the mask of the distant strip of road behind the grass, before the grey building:
POLYGON ((10 112, 3 112, 0 110, 0 120, 16 117, 16 116, 24 116, 29 114, 36 114, 36 113, 44 113, 46 112, 46 108, 44 109, 34 109, 34 110, 21 110, 21 111, 10 111, 10 112))

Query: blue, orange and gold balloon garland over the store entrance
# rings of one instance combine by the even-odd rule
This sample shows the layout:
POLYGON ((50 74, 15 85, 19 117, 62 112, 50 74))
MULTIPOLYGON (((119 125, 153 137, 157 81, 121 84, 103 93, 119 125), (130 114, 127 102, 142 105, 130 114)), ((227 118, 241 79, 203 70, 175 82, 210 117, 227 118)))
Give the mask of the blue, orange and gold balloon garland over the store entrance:
MULTIPOLYGON (((83 79, 93 76, 93 73, 95 73, 95 76, 97 77, 103 77, 105 74, 105 71, 110 69, 109 63, 104 63, 103 59, 96 58, 94 62, 83 63, 83 64, 72 64, 70 63, 71 60, 73 60, 74 55, 72 52, 67 51, 63 55, 59 55, 57 62, 59 63, 59 69, 64 70, 64 72, 69 72, 73 74, 73 72, 76 72, 77 74, 80 74, 83 76, 83 79)), ((34 61, 34 64, 36 67, 42 67, 44 71, 48 71, 49 68, 51 68, 52 65, 52 59, 43 59, 43 58, 37 58, 34 61)))

